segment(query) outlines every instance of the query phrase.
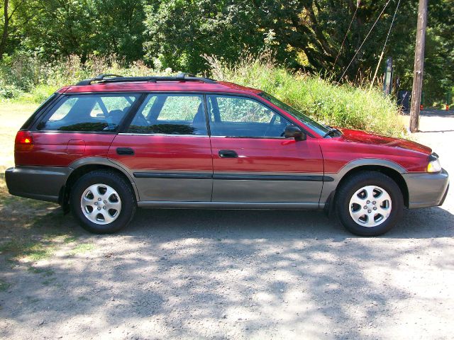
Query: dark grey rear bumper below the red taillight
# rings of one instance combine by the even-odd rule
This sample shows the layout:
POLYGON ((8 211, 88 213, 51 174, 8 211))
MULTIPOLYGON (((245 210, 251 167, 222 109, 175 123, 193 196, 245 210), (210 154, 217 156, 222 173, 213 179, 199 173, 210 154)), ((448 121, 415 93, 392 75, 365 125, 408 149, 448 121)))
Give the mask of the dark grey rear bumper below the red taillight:
POLYGON ((58 203, 72 169, 53 166, 16 166, 5 171, 11 195, 58 203))

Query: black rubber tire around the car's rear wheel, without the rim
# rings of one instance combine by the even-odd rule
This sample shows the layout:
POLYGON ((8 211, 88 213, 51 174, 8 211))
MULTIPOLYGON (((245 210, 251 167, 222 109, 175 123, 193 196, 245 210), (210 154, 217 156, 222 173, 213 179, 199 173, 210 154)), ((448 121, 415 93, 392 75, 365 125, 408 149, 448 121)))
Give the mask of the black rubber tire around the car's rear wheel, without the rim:
POLYGON ((78 179, 72 187, 70 192, 70 206, 72 214, 84 229, 96 234, 110 234, 117 232, 131 222, 136 203, 131 188, 121 176, 110 171, 92 171, 78 179), (106 184, 114 188, 121 200, 120 215, 118 215, 114 222, 107 225, 98 225, 88 220, 80 206, 80 200, 84 191, 89 186, 97 183, 106 184))

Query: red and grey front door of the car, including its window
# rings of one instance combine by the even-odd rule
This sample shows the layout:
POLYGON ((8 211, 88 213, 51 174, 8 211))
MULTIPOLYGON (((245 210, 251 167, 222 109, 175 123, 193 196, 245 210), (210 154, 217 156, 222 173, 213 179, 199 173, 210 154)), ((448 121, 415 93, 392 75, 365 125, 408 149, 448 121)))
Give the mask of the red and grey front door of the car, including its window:
POLYGON ((323 158, 316 138, 286 139, 292 123, 255 98, 206 98, 213 202, 319 203, 323 158))

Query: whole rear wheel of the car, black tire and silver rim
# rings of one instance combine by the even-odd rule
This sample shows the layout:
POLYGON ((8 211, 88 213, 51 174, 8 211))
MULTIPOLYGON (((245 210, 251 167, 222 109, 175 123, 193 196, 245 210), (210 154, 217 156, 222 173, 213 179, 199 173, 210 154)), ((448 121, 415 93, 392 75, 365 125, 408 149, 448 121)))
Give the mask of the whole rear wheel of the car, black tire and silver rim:
POLYGON ((72 215, 94 234, 118 232, 131 222, 137 203, 131 185, 114 171, 84 174, 70 192, 72 215))

